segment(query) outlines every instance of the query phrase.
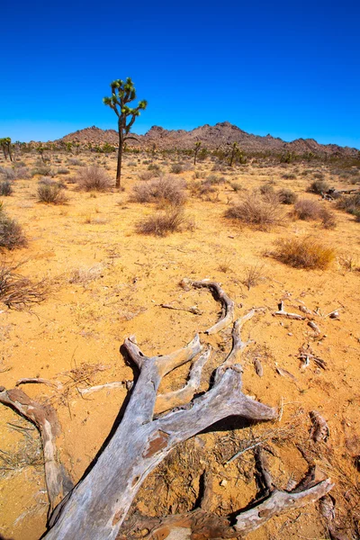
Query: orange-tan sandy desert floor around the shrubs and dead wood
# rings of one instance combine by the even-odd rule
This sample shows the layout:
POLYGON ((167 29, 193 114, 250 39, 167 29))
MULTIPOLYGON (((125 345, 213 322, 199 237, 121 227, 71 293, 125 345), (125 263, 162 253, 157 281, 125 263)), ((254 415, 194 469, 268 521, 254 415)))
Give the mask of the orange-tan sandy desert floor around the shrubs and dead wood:
MULTIPOLYGON (((289 215, 292 206, 282 205, 284 220, 261 231, 223 214, 246 190, 266 183, 275 190, 291 188, 301 197, 320 200, 319 195, 306 193, 316 171, 335 187, 353 186, 332 176, 327 164, 252 163, 213 172, 210 159, 193 167, 192 157, 177 157, 176 161, 187 166, 176 177, 186 180, 188 187, 195 171, 200 179, 216 174, 225 181, 215 185, 217 193, 210 197, 194 196, 187 190, 185 211, 193 222, 191 229, 166 237, 144 236, 136 231, 136 223, 156 208, 130 202, 130 193, 133 184, 143 182, 138 175, 148 170, 151 157, 125 157, 124 191, 86 193, 68 179, 93 162, 105 166, 114 178, 116 157, 55 154, 52 169, 65 166, 69 171, 54 178, 67 185, 66 204, 37 202, 37 175, 14 180, 13 195, 2 198, 5 211, 19 221, 28 239, 27 247, 3 252, 3 257, 7 263, 23 261, 17 272, 31 280, 49 280, 49 294, 31 311, 2 307, 0 383, 7 389, 23 377, 67 383, 66 392, 42 384, 23 385, 23 391, 40 401, 49 399, 58 411, 62 428, 58 451, 73 481, 81 478, 102 446, 127 392, 122 387, 85 397, 79 389, 132 379, 132 370, 119 352, 124 338, 136 335, 139 346, 150 356, 183 347, 197 331, 209 328, 219 317, 219 304, 206 291, 184 291, 179 283, 184 277, 210 278, 220 282, 236 302, 237 316, 252 307, 266 308, 244 327, 244 338, 254 341, 242 356, 244 392, 278 407, 281 419, 194 437, 148 477, 136 504, 149 515, 192 509, 206 464, 214 476, 214 509, 225 515, 245 507, 257 491, 252 452, 227 466, 225 462, 241 447, 262 439, 279 488, 286 488, 289 479, 302 478, 308 468, 303 453, 311 454, 318 477, 331 477, 336 483, 332 494, 338 525, 350 538, 356 530, 360 495, 355 463, 360 455, 360 224, 334 210, 336 228, 324 229, 319 221, 293 219, 289 215), (79 165, 72 164, 74 159, 79 165), (305 169, 308 172, 303 174, 305 169), (295 177, 284 178, 285 173, 295 177), (233 182, 240 185, 238 192, 231 187, 233 182), (292 268, 273 257, 276 240, 306 235, 336 249, 328 269, 292 268), (247 286, 254 269, 257 279, 247 286), (308 326, 308 320, 274 317, 281 300, 287 311, 301 313, 302 302, 317 311, 314 321, 320 335, 308 326), (179 308, 196 305, 202 314, 164 309, 162 303, 179 308), (327 315, 335 310, 339 317, 334 320, 327 315), (326 369, 312 361, 302 369, 299 349, 308 344, 326 362, 326 369), (255 358, 263 365, 262 377, 254 369, 255 358), (329 425, 328 441, 316 447, 310 437, 311 410, 318 410, 329 425)), ((21 157, 29 168, 38 158, 21 157)), ((153 163, 167 174, 173 162, 170 157, 156 157, 153 163)), ((9 166, 4 159, 0 165, 9 166)), ((321 203, 334 209, 332 202, 321 203)), ((211 371, 229 352, 230 330, 213 338, 201 334, 201 338, 214 349, 202 377, 202 390, 206 390, 211 371)), ((186 366, 169 374, 160 390, 180 387, 186 374, 186 366)), ((35 540, 45 531, 48 509, 38 432, 13 410, 0 408, 4 456, 0 462, 0 534, 6 539, 35 540)), ((319 505, 274 518, 249 538, 284 536, 329 537, 319 505)))

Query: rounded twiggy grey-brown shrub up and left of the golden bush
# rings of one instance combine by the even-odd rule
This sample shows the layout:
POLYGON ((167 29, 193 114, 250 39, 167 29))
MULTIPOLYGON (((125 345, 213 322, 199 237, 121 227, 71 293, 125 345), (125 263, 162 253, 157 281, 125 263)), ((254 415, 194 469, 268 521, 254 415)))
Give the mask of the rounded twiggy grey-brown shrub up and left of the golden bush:
POLYGON ((253 192, 244 196, 241 202, 231 206, 225 217, 238 220, 259 230, 269 230, 283 219, 280 201, 274 193, 253 192))

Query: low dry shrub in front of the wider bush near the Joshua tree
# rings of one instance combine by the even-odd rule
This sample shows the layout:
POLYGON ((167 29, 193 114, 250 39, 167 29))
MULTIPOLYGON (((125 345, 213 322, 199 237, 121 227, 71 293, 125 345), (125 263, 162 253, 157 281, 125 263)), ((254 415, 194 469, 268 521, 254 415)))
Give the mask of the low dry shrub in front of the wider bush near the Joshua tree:
POLYGON ((192 228, 193 224, 185 217, 184 210, 178 207, 157 212, 145 220, 139 221, 136 226, 140 234, 152 234, 160 237, 164 237, 170 232, 192 228))

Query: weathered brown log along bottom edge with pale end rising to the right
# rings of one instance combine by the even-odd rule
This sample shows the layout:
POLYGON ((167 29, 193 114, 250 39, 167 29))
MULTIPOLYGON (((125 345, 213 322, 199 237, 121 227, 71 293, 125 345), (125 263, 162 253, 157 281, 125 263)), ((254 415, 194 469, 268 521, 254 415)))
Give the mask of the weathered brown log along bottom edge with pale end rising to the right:
POLYGON ((146 540, 165 540, 175 538, 175 532, 178 538, 194 540, 243 538, 275 516, 313 504, 333 487, 334 484, 328 479, 300 492, 274 490, 265 500, 255 503, 253 508, 240 511, 235 525, 231 525, 232 518, 223 518, 203 509, 165 518, 147 518, 137 513, 124 524, 118 540, 135 540, 139 534, 146 540))

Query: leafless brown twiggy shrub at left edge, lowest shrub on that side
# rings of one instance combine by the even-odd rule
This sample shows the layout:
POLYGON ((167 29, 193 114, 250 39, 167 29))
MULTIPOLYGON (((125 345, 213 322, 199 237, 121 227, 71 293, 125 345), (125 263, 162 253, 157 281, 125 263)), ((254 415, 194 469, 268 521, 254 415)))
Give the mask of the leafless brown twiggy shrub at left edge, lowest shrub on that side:
POLYGON ((43 302, 49 293, 49 282, 38 283, 18 274, 21 263, 11 265, 2 261, 0 264, 0 302, 11 310, 25 310, 32 304, 43 302))

